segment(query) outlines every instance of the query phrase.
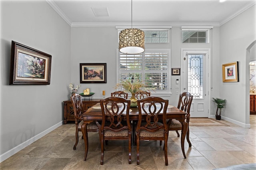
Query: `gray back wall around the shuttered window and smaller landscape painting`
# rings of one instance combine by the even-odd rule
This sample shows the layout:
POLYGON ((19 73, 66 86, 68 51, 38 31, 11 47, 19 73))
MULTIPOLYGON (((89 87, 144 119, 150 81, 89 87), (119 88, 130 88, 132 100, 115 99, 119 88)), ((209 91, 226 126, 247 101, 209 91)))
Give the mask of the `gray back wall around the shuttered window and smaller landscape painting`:
MULTIPOLYGON (((219 37, 219 28, 215 27, 213 30, 214 38, 213 42, 216 42, 219 37)), ((211 30, 212 32, 212 30, 211 30)), ((178 26, 172 27, 170 31, 170 43, 146 43, 146 49, 170 49, 171 67, 181 67, 181 48, 212 48, 211 50, 216 51, 215 47, 212 47, 210 43, 182 43, 181 28, 178 26)), ((219 49, 219 44, 214 43, 219 49)), ((118 50, 118 30, 115 27, 72 27, 71 28, 71 57, 72 57, 72 71, 71 81, 74 84, 80 82, 80 68, 79 63, 107 63, 107 83, 105 84, 90 84, 82 83, 78 89, 78 93, 82 93, 84 89, 90 88, 91 92, 94 92, 94 99, 102 98, 102 91, 106 91, 106 97, 110 96, 111 92, 116 89, 113 87, 116 84, 116 57, 118 50)), ((218 51, 216 51, 218 54, 218 51)), ((218 59, 218 55, 214 56, 214 60, 218 59)), ((171 72, 170 72, 171 73, 171 72)), ((170 96, 161 96, 164 99, 169 99, 169 103, 177 105, 178 95, 176 91, 181 92, 179 83, 179 89, 175 89, 176 79, 181 81, 181 76, 171 76, 171 92, 170 96)), ((217 85, 216 85, 217 86, 217 85)), ((154 95, 154 92, 152 92, 154 95)))

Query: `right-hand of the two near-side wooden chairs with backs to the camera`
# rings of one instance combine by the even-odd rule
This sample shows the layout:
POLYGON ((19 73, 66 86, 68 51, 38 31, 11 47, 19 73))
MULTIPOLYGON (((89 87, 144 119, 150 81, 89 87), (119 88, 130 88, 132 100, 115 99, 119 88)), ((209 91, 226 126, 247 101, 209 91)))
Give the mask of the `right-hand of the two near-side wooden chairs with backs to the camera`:
POLYGON ((166 121, 168 100, 160 97, 146 97, 137 102, 139 111, 138 125, 136 127, 137 165, 140 164, 140 140, 164 140, 164 159, 165 165, 168 165, 168 126, 166 121))

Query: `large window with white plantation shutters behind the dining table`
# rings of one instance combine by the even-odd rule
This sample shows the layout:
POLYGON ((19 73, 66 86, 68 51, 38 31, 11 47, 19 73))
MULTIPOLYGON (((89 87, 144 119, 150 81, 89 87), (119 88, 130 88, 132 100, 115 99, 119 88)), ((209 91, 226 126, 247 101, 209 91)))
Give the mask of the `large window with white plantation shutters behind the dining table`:
POLYGON ((146 89, 156 93, 169 92, 169 50, 145 50, 140 54, 118 52, 118 82, 141 80, 146 89))

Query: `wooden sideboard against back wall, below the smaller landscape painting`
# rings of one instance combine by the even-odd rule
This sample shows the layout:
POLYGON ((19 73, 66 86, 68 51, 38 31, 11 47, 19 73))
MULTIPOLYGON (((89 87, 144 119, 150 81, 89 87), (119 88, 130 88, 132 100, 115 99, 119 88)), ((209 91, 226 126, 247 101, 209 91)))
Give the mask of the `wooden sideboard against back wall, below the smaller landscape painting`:
MULTIPOLYGON (((85 111, 95 105, 96 103, 99 103, 101 99, 83 99, 83 107, 85 111)), ((70 100, 63 101, 64 102, 64 124, 66 124, 68 121, 75 121, 74 119, 74 110, 73 106, 70 100)))

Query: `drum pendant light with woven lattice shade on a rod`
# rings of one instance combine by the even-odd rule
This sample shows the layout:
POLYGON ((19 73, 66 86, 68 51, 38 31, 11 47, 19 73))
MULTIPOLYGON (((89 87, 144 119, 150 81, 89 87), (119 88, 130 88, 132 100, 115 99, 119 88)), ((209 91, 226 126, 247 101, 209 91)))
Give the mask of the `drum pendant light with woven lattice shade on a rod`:
POLYGON ((145 51, 145 33, 137 28, 127 28, 119 33, 119 51, 125 54, 138 54, 145 51))

